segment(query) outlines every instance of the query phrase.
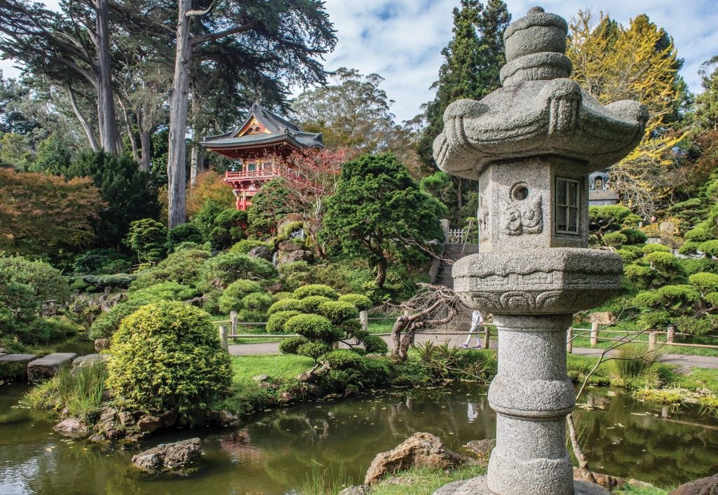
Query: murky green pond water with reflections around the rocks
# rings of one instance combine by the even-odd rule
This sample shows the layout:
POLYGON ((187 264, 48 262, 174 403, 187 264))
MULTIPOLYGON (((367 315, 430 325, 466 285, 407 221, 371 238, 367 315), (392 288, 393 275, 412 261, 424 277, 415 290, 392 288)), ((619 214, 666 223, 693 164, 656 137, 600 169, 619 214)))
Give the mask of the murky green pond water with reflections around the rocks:
MULTIPOLYGON (((355 483, 376 453, 416 431, 438 435, 452 450, 493 436, 495 414, 485 387, 453 383, 393 389, 339 402, 309 402, 251 417, 235 430, 180 430, 157 443, 199 436, 207 453, 189 476, 144 476, 129 468, 139 448, 72 441, 53 422, 17 407, 27 385, 0 386, 0 494, 296 494, 312 462, 355 483)), ((662 410, 611 389, 591 389, 576 421, 597 471, 681 484, 714 474, 718 420, 694 409, 662 410)))

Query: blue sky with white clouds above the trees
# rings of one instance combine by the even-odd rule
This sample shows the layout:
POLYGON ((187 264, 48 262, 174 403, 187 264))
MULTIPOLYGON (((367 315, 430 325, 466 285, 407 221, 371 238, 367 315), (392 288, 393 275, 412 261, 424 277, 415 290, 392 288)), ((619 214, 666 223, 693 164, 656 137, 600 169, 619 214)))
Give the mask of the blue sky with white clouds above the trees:
MULTIPOLYGON (((646 13, 675 40, 686 62, 682 75, 691 91, 700 91, 698 69, 718 55, 718 0, 505 0, 513 19, 540 4, 569 19, 579 9, 605 11, 627 24, 646 13)), ((56 4, 55 0, 46 2, 56 4)), ((327 0, 327 11, 339 43, 327 56, 327 69, 342 66, 378 73, 393 99, 398 120, 411 119, 433 98, 429 86, 442 63, 440 51, 451 38, 452 9, 459 0, 327 0)), ((17 75, 9 60, 0 60, 6 76, 17 75)))

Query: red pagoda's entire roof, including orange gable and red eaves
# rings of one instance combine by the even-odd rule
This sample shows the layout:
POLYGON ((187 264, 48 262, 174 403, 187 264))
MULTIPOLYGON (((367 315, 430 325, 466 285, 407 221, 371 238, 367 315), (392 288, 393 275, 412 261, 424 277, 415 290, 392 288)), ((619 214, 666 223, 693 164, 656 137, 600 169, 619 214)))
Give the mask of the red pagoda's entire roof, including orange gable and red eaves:
POLYGON ((286 147, 323 148, 324 144, 322 134, 304 132, 296 124, 282 119, 256 102, 237 129, 207 136, 202 140, 202 146, 231 159, 243 159, 250 155, 260 156, 265 151, 276 153, 286 147))

